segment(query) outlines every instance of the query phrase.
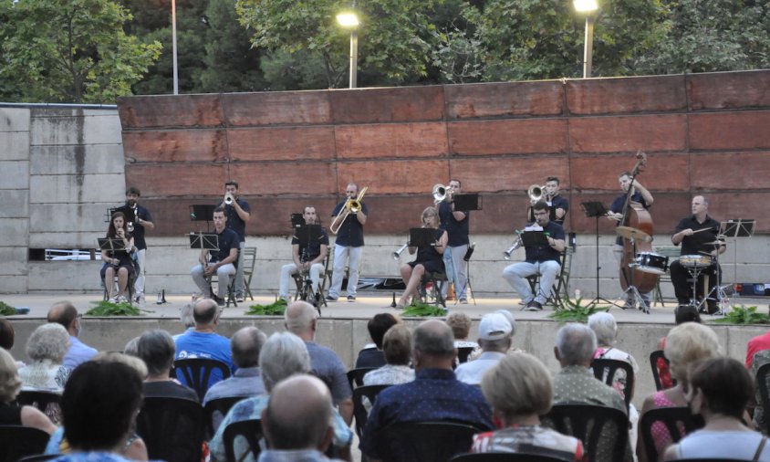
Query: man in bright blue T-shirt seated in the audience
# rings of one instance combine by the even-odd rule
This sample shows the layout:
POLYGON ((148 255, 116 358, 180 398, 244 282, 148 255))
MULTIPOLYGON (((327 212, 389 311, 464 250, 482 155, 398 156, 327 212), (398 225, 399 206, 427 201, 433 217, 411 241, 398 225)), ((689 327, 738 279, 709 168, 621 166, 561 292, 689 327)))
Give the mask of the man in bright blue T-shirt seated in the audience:
MULTIPOLYGON (((185 332, 176 339, 176 359, 205 358, 224 362, 234 370, 233 357, 230 354, 230 341, 216 333, 219 324, 220 308, 213 299, 199 299, 192 306, 192 318, 195 329, 185 332)), ((177 379, 184 385, 184 377, 177 374, 177 379)), ((209 377, 209 387, 223 380, 222 372, 214 369, 209 377)))

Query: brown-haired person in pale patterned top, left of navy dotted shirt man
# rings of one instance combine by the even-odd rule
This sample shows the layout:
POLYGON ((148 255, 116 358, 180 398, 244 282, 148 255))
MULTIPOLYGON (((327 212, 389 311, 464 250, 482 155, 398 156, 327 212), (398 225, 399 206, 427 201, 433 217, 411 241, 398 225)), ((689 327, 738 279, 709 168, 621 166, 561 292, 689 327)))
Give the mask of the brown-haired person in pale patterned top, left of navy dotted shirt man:
POLYGON ((364 375, 364 385, 397 385, 414 380, 411 362, 411 331, 403 324, 396 324, 385 332, 382 351, 386 364, 364 375))

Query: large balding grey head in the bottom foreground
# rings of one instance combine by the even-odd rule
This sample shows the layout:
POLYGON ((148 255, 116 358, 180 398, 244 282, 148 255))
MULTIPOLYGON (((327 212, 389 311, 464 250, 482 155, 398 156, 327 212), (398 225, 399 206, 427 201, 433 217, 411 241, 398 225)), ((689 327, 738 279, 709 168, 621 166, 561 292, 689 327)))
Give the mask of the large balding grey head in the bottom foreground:
POLYGON ((295 375, 276 385, 262 411, 267 449, 261 462, 322 462, 334 437, 329 425, 331 394, 312 375, 295 375))

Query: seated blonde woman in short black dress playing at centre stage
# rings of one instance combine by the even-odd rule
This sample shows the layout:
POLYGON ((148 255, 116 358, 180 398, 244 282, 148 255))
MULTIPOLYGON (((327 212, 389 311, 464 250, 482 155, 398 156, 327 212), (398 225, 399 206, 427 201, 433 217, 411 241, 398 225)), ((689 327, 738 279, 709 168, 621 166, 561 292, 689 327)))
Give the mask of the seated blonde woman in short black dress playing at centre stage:
POLYGON ((399 310, 411 303, 411 299, 419 297, 418 287, 423 274, 445 271, 442 256, 449 236, 446 231, 439 227, 439 223, 439 212, 435 207, 428 207, 422 211, 422 227, 434 230, 435 243, 431 246, 409 247, 409 253, 417 252, 417 257, 414 261, 401 266, 401 278, 406 284, 406 290, 396 304, 396 308, 399 310))

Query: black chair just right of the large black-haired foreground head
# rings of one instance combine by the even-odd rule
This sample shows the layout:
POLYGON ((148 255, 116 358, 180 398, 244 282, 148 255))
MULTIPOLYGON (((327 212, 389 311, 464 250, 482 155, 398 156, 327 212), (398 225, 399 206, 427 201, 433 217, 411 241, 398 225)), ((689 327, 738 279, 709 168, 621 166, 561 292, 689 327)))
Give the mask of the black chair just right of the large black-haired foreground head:
POLYGON ((136 432, 151 459, 167 462, 201 460, 203 407, 184 398, 144 398, 136 432))

